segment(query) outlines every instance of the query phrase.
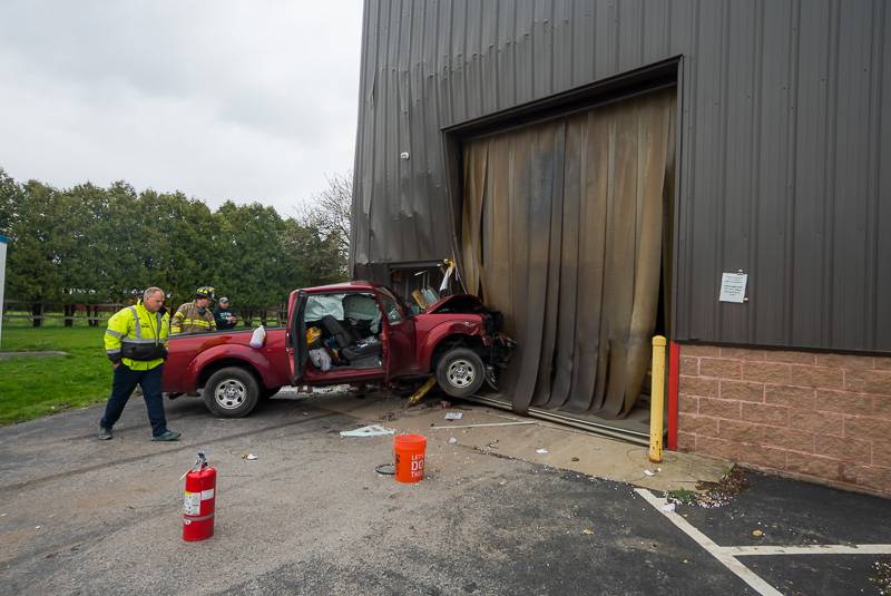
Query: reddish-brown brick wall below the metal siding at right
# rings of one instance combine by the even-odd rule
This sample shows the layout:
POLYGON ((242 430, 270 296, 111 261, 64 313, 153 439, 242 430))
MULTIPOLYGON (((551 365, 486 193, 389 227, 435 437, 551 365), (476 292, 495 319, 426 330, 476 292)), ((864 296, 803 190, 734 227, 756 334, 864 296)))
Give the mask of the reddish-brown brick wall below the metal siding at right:
POLYGON ((891 358, 681 345, 677 443, 891 497, 891 358))

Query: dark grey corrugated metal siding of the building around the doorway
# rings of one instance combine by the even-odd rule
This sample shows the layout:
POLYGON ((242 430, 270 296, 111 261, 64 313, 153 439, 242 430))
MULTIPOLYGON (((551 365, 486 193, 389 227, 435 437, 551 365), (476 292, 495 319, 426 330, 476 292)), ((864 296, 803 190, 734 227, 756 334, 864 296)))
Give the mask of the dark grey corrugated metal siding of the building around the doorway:
POLYGON ((883 0, 370 0, 364 36, 359 268, 451 251, 441 128, 683 56, 675 338, 891 351, 883 0))

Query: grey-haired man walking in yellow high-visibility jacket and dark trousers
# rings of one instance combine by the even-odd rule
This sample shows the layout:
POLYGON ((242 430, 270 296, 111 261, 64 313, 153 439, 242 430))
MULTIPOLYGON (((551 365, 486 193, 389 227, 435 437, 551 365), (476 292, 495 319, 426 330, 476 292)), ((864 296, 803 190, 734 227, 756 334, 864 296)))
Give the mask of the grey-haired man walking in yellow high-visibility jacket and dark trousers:
POLYGON ((161 375, 167 359, 170 315, 164 309, 164 291, 149 287, 143 300, 119 310, 108 320, 105 352, 115 367, 111 397, 99 421, 99 439, 111 439, 111 427, 118 421, 138 384, 143 388, 153 441, 175 441, 178 432, 167 428, 161 397, 161 375))

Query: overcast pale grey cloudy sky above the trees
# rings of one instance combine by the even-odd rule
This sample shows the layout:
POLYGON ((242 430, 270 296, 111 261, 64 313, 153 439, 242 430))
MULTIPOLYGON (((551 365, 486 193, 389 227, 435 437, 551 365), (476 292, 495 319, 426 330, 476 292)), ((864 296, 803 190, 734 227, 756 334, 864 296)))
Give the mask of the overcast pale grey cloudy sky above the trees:
POLYGON ((0 2, 0 167, 293 215, 353 166, 362 2, 0 2))

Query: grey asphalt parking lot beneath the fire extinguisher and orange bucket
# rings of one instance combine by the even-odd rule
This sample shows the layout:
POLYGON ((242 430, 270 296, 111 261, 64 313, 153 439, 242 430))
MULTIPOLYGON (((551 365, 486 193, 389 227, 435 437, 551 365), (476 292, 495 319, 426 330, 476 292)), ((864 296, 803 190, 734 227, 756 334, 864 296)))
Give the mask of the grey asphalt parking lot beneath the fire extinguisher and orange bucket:
POLYGON ((723 507, 669 514, 658 492, 431 432, 424 481, 398 483, 374 471, 391 437, 339 434, 423 422, 390 398, 285 393, 241 420, 179 399, 178 443, 148 441, 138 398, 112 441, 94 439, 99 414, 0 429, 0 593, 771 593, 730 557, 781 594, 881 594, 889 561, 891 501, 757 473, 723 507), (219 470, 216 534, 186 544, 198 449, 219 470))

